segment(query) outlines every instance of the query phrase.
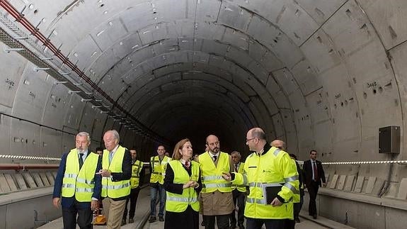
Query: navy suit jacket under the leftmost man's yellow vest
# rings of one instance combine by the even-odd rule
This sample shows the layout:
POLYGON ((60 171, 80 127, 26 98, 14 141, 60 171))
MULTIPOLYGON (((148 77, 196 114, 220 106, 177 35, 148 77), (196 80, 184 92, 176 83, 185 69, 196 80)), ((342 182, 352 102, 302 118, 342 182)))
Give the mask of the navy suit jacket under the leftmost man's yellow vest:
MULTIPOLYGON (((88 152, 93 153, 93 152, 88 152)), ((57 177, 55 177, 55 183, 54 183, 54 193, 52 194, 52 198, 58 197, 61 198, 62 194, 62 179, 64 179, 64 174, 65 174, 65 168, 67 165, 67 156, 69 152, 64 153, 62 155, 61 163, 59 163, 59 168, 57 172, 57 177)), ((86 160, 86 159, 85 159, 86 160)), ((99 172, 99 170, 102 169, 102 158, 99 157, 98 160, 98 166, 96 167, 96 172, 99 172)), ((96 198, 98 200, 101 199, 101 190, 102 190, 102 177, 101 175, 96 175, 95 174, 95 187, 93 188, 93 198, 96 198)), ((62 197, 61 198, 61 206, 62 208, 69 208, 74 204, 75 201, 75 196, 72 197, 62 197)), ((79 202, 79 206, 81 208, 91 208, 91 202, 79 202)))

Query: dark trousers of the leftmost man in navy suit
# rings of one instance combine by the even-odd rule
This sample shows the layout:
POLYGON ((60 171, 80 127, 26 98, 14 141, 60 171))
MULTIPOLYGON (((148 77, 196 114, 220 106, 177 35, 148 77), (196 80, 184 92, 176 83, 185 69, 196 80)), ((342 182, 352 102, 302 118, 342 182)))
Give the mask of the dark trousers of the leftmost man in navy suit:
MULTIPOLYGON (((78 201, 75 201, 69 208, 62 208, 62 220, 64 222, 64 229, 75 229, 76 222, 81 229, 91 229, 92 225, 92 215, 91 205, 88 208, 80 206, 78 201), (76 215, 78 215, 78 220, 76 220, 76 215)), ((83 203, 82 203, 83 204, 83 203)))

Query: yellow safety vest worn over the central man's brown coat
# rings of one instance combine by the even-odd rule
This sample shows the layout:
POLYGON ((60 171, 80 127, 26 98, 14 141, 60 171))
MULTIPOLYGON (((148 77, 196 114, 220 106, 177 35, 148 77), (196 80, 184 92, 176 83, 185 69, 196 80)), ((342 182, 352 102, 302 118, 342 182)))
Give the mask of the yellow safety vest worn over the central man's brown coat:
POLYGON ((202 193, 209 193, 216 190, 220 192, 231 192, 231 182, 223 179, 224 172, 230 172, 229 155, 226 152, 219 152, 219 159, 215 167, 210 152, 199 155, 202 193))

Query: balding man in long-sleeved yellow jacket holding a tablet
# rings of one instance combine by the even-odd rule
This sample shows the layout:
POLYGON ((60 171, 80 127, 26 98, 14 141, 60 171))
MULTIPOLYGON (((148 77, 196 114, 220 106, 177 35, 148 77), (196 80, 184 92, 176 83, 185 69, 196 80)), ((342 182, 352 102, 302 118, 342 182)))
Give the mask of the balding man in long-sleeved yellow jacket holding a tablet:
POLYGON ((249 186, 246 228, 286 228, 287 220, 294 219, 293 200, 299 199, 297 167, 287 152, 267 143, 261 128, 248 130, 246 145, 254 152, 246 158, 243 174, 223 175, 232 184, 249 186))

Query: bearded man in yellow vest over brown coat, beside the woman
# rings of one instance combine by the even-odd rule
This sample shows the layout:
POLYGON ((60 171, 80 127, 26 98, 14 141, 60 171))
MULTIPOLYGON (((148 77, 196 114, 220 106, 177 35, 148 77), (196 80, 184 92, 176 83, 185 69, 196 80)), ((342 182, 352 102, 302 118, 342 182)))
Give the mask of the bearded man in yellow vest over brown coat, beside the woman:
POLYGON ((201 212, 206 229, 229 229, 229 216, 234 211, 230 181, 222 174, 233 171, 233 162, 226 152, 220 151, 219 139, 215 135, 206 138, 207 152, 198 157, 202 180, 200 192, 201 212))

